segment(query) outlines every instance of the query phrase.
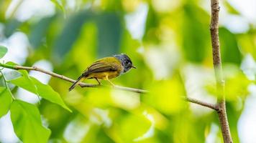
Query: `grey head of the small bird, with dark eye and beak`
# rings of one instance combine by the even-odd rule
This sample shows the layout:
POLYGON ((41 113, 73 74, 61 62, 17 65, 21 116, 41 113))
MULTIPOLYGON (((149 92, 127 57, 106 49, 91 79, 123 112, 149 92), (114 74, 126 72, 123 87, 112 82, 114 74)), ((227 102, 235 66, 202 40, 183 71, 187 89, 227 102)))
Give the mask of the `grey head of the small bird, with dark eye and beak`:
POLYGON ((132 60, 129 59, 129 56, 127 56, 126 54, 115 54, 114 57, 121 61, 122 66, 124 67, 124 73, 129 71, 129 69, 131 68, 136 69, 136 67, 132 65, 132 60))

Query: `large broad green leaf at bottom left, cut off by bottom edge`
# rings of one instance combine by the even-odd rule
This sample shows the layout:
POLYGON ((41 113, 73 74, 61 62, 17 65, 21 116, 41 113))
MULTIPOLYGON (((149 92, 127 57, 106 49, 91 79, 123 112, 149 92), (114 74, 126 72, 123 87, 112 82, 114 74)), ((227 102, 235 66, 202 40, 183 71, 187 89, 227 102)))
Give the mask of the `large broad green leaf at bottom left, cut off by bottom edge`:
POLYGON ((42 126, 40 112, 33 104, 15 100, 11 106, 14 132, 22 142, 45 143, 50 137, 50 129, 42 126))

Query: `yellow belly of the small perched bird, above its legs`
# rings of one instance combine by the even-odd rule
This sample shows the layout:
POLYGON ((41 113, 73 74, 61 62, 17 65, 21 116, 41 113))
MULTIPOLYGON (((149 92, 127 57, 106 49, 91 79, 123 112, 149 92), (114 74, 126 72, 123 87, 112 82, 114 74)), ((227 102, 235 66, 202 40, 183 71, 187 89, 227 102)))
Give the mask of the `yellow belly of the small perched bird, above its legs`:
POLYGON ((108 77, 109 79, 113 79, 115 77, 118 77, 119 74, 120 74, 119 71, 94 72, 94 73, 91 73, 88 76, 88 79, 90 79, 90 78, 97 78, 97 79, 104 79, 104 80, 106 80, 106 77, 108 77))

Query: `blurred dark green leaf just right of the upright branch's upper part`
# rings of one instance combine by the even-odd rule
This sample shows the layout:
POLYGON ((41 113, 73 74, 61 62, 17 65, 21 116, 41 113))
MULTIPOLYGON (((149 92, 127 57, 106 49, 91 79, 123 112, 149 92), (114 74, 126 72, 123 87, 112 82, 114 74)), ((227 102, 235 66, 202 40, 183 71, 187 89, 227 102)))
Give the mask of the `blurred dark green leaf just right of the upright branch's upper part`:
POLYGON ((240 64, 242 57, 234 34, 232 34, 228 29, 220 28, 219 41, 221 44, 222 61, 240 64))

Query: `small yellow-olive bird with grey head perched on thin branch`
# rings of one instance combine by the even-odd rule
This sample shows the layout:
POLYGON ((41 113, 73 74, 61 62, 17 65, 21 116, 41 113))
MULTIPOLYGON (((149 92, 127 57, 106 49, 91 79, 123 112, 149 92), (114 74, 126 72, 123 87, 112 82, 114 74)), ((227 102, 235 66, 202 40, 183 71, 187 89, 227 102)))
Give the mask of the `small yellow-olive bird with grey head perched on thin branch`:
POLYGON ((126 73, 131 68, 136 69, 127 54, 115 54, 98 59, 83 71, 83 74, 78 77, 76 82, 74 82, 68 90, 70 92, 85 79, 96 79, 99 85, 101 85, 99 79, 103 79, 107 80, 112 86, 115 86, 109 79, 119 77, 119 75, 126 73))

